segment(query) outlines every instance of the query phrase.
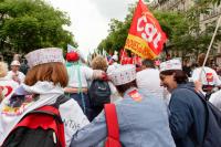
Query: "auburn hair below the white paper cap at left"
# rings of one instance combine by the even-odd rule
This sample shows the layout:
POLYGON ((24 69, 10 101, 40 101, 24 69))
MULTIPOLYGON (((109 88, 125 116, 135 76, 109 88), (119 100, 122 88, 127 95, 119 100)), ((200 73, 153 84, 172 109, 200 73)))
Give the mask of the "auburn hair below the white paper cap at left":
POLYGON ((60 62, 51 62, 33 66, 27 73, 24 83, 32 86, 39 81, 53 82, 54 85, 60 84, 62 87, 65 87, 69 82, 66 67, 60 62))

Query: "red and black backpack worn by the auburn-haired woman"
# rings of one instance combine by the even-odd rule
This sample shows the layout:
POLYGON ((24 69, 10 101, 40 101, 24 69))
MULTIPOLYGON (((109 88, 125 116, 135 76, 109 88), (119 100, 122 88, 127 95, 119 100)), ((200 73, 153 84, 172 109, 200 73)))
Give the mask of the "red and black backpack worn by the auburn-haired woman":
POLYGON ((65 147, 64 124, 59 106, 69 101, 61 95, 53 105, 28 113, 12 129, 2 147, 65 147))

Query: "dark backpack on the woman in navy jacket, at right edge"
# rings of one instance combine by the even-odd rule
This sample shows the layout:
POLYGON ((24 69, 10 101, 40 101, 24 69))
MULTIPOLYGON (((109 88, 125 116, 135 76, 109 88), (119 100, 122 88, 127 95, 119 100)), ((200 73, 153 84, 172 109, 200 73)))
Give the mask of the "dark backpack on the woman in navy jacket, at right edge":
POLYGON ((206 130, 202 147, 221 147, 221 112, 209 101, 206 101, 202 94, 191 88, 188 90, 194 92, 206 107, 206 130))

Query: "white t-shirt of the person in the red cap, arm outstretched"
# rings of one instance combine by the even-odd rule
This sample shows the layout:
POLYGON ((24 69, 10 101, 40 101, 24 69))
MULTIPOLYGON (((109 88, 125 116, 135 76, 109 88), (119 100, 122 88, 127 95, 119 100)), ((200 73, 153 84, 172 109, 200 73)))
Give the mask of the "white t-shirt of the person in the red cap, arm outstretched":
POLYGON ((67 66, 69 74, 69 87, 80 87, 80 78, 82 82, 82 87, 87 87, 87 81, 93 78, 93 70, 85 65, 71 65, 67 66), (78 72, 80 70, 80 72, 78 72), (80 74, 80 77, 78 77, 80 74))

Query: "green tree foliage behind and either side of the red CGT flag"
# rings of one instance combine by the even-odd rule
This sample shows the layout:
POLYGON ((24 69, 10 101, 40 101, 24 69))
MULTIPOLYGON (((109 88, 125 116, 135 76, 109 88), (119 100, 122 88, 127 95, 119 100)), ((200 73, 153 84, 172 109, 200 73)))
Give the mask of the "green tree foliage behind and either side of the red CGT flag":
MULTIPOLYGON (((214 0, 219 2, 220 0, 214 0)), ((209 13, 211 10, 211 0, 196 0, 194 7, 187 12, 173 11, 151 11, 155 18, 159 21, 161 29, 166 32, 169 42, 166 48, 169 50, 181 50, 182 55, 187 53, 199 53, 208 49, 215 24, 208 25, 206 30, 201 30, 200 14, 209 13)), ((106 50, 107 52, 119 51, 124 48, 131 23, 135 4, 129 8, 128 15, 120 22, 112 20, 109 24, 109 34, 104 39, 98 50, 106 50)), ((150 9, 151 10, 151 9, 150 9)), ((215 38, 217 43, 221 40, 219 30, 215 38)))

